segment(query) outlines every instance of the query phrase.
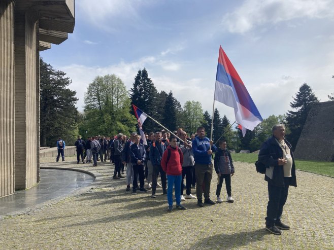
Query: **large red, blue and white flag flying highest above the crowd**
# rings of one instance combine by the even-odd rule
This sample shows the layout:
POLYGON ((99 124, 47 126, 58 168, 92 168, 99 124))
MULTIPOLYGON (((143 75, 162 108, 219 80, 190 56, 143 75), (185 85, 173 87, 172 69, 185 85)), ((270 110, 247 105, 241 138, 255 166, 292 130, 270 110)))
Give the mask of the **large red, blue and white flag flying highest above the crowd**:
POLYGON ((263 120, 237 70, 221 46, 219 48, 215 100, 235 109, 236 121, 242 126, 243 136, 245 136, 247 129, 253 130, 263 120))

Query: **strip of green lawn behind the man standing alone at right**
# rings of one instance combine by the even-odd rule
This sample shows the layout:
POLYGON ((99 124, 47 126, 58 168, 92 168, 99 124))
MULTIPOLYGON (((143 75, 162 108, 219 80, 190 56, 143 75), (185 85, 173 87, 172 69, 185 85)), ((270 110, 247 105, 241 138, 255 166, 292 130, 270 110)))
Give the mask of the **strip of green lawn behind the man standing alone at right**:
MULTIPOLYGON (((257 154, 231 154, 234 161, 255 163, 257 154)), ((295 160, 296 169, 334 177, 334 162, 295 160)))

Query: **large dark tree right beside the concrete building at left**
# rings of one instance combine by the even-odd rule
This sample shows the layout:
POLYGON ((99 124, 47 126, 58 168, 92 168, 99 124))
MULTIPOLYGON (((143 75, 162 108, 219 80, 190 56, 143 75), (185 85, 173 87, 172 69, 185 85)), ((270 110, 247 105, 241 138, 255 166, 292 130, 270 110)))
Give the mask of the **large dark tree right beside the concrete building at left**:
POLYGON ((55 70, 40 57, 40 117, 41 146, 55 147, 58 137, 66 145, 74 145, 78 136, 78 98, 76 91, 68 88, 72 80, 66 74, 55 70))

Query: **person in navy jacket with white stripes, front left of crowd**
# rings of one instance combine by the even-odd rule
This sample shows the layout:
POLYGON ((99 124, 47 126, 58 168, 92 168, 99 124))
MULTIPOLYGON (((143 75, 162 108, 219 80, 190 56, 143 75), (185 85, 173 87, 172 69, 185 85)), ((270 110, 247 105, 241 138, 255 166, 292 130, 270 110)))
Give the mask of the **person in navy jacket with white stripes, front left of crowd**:
POLYGON ((147 192, 144 188, 144 162, 145 162, 145 147, 140 143, 141 136, 136 135, 135 143, 130 146, 130 161, 132 164, 132 194, 137 194, 137 176, 139 174, 140 189, 139 192, 147 192))

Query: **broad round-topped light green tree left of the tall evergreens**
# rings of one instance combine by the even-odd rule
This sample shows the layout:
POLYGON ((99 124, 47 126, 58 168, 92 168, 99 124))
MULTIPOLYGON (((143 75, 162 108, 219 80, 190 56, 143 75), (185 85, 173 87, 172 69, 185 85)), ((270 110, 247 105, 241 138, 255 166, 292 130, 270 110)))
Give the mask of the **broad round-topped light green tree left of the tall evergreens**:
POLYGON ((88 134, 129 134, 137 120, 129 112, 130 98, 125 84, 116 75, 96 77, 85 93, 85 120, 88 134))

